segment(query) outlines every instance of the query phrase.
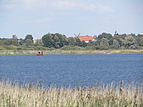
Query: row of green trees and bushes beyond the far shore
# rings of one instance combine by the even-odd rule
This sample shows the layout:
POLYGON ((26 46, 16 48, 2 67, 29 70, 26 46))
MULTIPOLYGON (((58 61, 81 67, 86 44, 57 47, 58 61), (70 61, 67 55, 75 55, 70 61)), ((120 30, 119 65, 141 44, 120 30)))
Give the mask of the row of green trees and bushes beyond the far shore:
POLYGON ((77 37, 67 37, 59 33, 48 33, 39 40, 33 40, 28 34, 24 39, 13 35, 11 39, 0 38, 0 44, 15 46, 43 46, 59 49, 62 47, 92 47, 99 50, 105 49, 143 49, 143 34, 117 34, 102 33, 94 36, 95 41, 86 43, 77 37))

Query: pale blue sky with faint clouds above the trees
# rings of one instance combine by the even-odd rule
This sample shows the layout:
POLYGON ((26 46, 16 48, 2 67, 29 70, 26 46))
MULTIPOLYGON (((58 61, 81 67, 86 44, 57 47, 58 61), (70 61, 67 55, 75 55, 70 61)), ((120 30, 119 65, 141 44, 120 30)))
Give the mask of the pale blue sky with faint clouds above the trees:
POLYGON ((143 34, 143 0, 0 0, 0 38, 143 34))

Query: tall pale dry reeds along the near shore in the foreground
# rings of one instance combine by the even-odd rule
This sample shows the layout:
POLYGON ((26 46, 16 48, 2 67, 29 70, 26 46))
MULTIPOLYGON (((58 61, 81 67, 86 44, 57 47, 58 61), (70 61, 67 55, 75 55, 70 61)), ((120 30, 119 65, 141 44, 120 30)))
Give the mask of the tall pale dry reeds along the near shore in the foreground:
POLYGON ((0 107, 143 107, 143 85, 43 88, 0 82, 0 107))

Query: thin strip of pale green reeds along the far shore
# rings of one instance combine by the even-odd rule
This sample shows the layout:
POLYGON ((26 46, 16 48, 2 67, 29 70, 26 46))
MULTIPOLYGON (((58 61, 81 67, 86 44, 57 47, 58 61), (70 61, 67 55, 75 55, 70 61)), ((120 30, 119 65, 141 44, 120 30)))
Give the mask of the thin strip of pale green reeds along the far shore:
MULTIPOLYGON (((0 50, 0 55, 35 55, 38 50, 0 50)), ((143 54, 143 50, 43 50, 44 54, 143 54)))

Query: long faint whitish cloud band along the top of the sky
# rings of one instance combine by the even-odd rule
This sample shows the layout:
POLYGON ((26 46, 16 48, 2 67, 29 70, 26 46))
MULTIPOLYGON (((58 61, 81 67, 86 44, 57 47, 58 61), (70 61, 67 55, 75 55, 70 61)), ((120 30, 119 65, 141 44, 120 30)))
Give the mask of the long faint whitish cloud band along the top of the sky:
POLYGON ((75 1, 75 0, 5 0, 5 4, 1 7, 8 8, 14 6, 22 6, 23 8, 51 8, 51 9, 82 9, 96 12, 112 12, 113 9, 108 5, 102 3, 75 1))

